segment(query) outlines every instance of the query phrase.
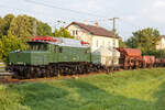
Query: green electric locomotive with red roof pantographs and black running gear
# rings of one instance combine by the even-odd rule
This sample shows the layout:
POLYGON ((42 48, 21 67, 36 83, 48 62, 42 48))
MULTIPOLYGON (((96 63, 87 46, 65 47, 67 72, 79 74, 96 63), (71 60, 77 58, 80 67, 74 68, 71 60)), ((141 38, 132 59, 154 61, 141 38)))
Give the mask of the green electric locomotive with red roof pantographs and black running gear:
POLYGON ((28 44, 29 51, 9 54, 8 68, 16 78, 84 74, 90 70, 90 47, 85 43, 64 37, 36 36, 28 44))

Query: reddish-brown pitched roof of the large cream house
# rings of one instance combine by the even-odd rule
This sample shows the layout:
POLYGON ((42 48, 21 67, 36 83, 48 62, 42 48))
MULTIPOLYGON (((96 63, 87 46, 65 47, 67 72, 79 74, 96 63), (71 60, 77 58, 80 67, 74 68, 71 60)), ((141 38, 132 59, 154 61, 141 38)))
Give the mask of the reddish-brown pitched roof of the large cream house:
POLYGON ((68 26, 70 25, 78 25, 79 28, 88 31, 90 34, 92 35, 99 35, 99 36, 107 36, 107 37, 117 37, 119 38, 118 35, 114 35, 112 32, 100 28, 100 26, 94 26, 94 25, 88 25, 88 24, 84 24, 84 23, 78 23, 78 22, 72 22, 69 25, 66 26, 66 29, 68 29, 68 26))

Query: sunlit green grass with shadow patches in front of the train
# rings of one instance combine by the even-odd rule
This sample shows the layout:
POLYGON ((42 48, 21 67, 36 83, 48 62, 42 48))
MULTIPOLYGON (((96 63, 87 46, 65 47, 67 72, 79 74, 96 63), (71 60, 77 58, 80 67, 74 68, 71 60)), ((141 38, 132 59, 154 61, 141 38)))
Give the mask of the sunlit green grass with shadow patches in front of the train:
POLYGON ((165 110, 165 68, 0 85, 0 110, 165 110))

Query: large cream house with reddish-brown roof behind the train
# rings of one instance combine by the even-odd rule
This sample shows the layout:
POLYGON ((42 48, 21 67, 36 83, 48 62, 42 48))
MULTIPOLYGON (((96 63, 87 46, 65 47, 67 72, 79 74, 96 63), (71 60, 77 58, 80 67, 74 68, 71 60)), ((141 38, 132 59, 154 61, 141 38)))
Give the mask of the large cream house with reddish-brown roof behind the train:
POLYGON ((72 22, 66 29, 75 38, 88 42, 91 52, 102 47, 119 47, 119 36, 112 32, 100 28, 98 23, 89 25, 88 23, 72 22))

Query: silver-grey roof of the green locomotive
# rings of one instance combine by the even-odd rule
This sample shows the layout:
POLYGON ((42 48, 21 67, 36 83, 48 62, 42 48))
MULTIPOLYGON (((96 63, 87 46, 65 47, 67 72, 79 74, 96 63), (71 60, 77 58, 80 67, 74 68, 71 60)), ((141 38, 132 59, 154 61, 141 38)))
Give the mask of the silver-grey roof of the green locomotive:
POLYGON ((45 41, 31 41, 31 42, 47 43, 47 44, 54 44, 54 45, 59 45, 59 46, 70 46, 70 47, 89 47, 88 45, 81 44, 81 42, 78 40, 66 38, 66 37, 55 37, 55 38, 57 40, 56 42, 45 42, 45 41))

